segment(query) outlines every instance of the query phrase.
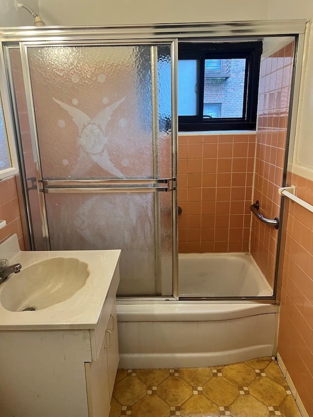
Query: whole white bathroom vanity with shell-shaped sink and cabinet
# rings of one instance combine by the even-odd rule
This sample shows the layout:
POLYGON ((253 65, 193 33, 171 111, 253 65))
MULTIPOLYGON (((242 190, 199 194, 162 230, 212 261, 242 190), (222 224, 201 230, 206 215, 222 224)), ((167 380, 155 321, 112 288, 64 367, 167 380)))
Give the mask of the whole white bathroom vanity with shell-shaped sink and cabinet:
POLYGON ((119 361, 120 251, 20 252, 17 242, 13 235, 0 244, 0 258, 22 264, 19 274, 0 285, 0 416, 108 417, 119 361), (51 259, 53 267, 46 263, 51 259), (72 295, 68 259, 83 265, 77 275, 81 269, 85 274, 85 283, 72 295), (37 283, 38 265, 39 275, 48 269, 51 291, 45 285, 29 294, 24 281, 37 283), (27 269, 32 273, 27 275, 27 269), (69 298, 59 302, 64 292, 69 298), (34 311, 21 311, 25 299, 34 311))

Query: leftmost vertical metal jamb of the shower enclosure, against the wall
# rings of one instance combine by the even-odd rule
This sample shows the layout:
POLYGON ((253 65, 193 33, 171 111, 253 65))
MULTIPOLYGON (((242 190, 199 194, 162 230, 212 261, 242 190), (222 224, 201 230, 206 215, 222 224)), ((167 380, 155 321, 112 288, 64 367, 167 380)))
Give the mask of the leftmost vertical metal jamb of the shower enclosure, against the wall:
MULTIPOLYGON (((19 50, 19 45, 13 46, 15 49, 19 50)), ((16 102, 15 96, 15 87, 14 87, 14 79, 13 79, 13 72, 12 72, 12 65, 11 65, 11 58, 10 58, 10 49, 12 47, 5 46, 4 47, 4 59, 5 59, 5 66, 7 72, 7 79, 8 79, 8 88, 10 91, 10 98, 11 98, 11 107, 12 107, 12 115, 13 120, 15 123, 15 135, 16 135, 16 146, 17 152, 19 157, 19 165, 20 165, 20 180, 19 184, 17 182, 18 193, 21 195, 20 206, 23 206, 23 212, 21 210, 22 215, 22 226, 23 231, 24 229, 27 230, 27 237, 28 242, 25 241, 25 249, 35 249, 34 246, 34 236, 33 236, 33 228, 31 223, 31 216, 30 216, 30 204, 27 192, 27 181, 26 181, 26 173, 25 173, 25 164, 24 164, 24 157, 23 157, 23 150, 22 150, 22 139, 21 139, 21 129, 20 129, 20 122, 19 122, 19 112, 16 102)))

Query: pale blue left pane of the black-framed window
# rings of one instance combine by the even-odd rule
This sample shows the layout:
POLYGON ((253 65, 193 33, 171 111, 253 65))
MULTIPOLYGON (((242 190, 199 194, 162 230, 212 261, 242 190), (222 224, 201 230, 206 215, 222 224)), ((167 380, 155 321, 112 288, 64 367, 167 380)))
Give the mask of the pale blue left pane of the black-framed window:
POLYGON ((198 114, 198 68, 199 61, 188 59, 178 62, 178 114, 198 114))

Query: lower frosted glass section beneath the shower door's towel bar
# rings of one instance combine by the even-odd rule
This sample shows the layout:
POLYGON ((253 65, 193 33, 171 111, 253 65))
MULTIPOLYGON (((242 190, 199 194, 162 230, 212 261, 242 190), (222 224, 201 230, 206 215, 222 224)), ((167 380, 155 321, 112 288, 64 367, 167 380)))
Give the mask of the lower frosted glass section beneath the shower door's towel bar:
POLYGON ((165 280, 167 278, 170 285, 172 282, 169 237, 165 232, 171 214, 168 207, 161 209, 169 218, 167 225, 161 225, 161 235, 166 239, 166 256, 161 260, 156 253, 153 194, 46 195, 51 249, 122 249, 118 294, 160 295, 156 262, 161 263, 165 280))

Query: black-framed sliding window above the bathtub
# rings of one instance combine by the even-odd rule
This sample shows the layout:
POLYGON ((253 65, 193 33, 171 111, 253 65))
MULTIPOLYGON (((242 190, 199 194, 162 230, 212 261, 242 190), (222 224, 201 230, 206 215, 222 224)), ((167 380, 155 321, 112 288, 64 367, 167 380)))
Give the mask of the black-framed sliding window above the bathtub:
POLYGON ((180 43, 179 131, 254 130, 262 42, 180 43))

